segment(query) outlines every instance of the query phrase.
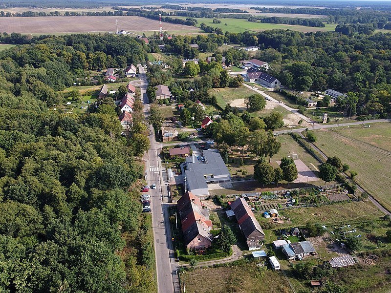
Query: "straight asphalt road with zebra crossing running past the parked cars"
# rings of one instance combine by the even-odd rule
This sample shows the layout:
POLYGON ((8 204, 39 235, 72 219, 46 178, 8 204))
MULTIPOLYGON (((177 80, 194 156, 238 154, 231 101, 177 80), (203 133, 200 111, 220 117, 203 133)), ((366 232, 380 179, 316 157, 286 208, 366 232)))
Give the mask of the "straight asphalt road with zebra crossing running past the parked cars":
MULTIPOLYGON (((147 80, 144 68, 138 64, 140 80, 143 81, 141 86, 141 97, 144 103, 144 113, 148 116, 149 103, 146 94, 147 80)), ((146 176, 149 186, 156 184, 156 189, 150 189, 148 194, 151 195, 152 208, 152 231, 155 248, 156 274, 157 274, 157 292, 173 293, 174 282, 178 285, 178 279, 172 272, 177 270, 174 262, 173 244, 171 241, 171 230, 168 214, 168 192, 162 177, 160 158, 160 143, 156 142, 152 126, 150 126, 150 143, 151 147, 146 154, 146 176), (174 276, 174 278, 173 278, 174 276)))

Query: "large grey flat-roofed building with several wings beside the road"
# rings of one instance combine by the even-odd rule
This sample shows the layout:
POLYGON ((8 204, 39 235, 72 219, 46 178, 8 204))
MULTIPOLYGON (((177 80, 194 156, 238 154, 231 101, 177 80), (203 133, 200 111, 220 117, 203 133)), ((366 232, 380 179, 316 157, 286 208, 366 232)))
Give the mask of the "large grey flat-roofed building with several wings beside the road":
POLYGON ((204 150, 205 162, 195 156, 186 158, 181 167, 184 170, 186 186, 196 196, 208 196, 208 183, 231 181, 231 174, 217 149, 204 150))

